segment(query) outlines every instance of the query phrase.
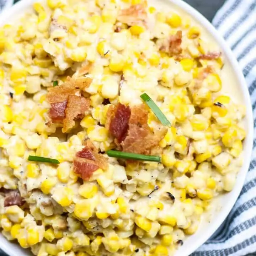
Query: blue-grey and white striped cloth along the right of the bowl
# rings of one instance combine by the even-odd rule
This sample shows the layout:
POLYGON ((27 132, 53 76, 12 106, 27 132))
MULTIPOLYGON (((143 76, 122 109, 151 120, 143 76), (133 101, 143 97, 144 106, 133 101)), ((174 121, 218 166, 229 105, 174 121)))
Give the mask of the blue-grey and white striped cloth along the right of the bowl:
MULTIPOLYGON (((256 0, 228 0, 213 25, 233 50, 251 95, 256 127, 256 0)), ((191 256, 244 256, 256 252, 256 136, 245 185, 222 228, 191 256)), ((255 254, 256 255, 256 254, 255 254)))

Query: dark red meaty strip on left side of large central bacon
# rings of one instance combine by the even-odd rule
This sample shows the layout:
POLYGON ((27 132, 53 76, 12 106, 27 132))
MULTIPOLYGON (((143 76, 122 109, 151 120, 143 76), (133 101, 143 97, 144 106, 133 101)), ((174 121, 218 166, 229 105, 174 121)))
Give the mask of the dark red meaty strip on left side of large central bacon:
POLYGON ((108 129, 117 141, 121 143, 127 135, 131 111, 129 107, 126 107, 121 103, 118 103, 115 108, 113 108, 113 106, 111 107, 113 109, 111 110, 112 118, 108 129))

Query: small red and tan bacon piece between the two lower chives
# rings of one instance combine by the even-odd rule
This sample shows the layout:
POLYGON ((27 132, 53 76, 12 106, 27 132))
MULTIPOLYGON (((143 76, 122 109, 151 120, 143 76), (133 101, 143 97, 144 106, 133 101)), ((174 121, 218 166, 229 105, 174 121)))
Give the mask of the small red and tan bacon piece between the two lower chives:
POLYGON ((89 180, 97 169, 107 169, 107 158, 99 154, 94 145, 87 140, 86 146, 76 153, 74 172, 81 175, 83 180, 89 180))

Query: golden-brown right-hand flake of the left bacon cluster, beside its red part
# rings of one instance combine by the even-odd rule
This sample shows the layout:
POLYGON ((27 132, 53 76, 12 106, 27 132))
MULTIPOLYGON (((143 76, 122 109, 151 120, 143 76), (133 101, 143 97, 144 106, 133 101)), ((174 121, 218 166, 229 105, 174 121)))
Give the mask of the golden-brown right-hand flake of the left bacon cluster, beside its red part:
POLYGON ((90 107, 90 99, 76 95, 68 96, 68 103, 65 109, 62 132, 65 133, 75 126, 75 120, 84 117, 85 111, 90 107))

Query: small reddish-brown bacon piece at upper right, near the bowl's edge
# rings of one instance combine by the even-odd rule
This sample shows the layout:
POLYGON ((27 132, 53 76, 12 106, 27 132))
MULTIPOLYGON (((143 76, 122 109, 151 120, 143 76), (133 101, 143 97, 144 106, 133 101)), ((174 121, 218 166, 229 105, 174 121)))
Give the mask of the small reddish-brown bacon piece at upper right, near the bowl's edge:
POLYGON ((175 35, 170 36, 167 40, 164 41, 160 50, 168 53, 170 56, 181 54, 182 48, 182 32, 177 31, 175 35))

